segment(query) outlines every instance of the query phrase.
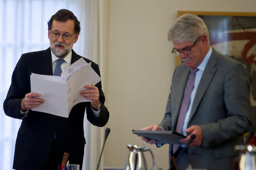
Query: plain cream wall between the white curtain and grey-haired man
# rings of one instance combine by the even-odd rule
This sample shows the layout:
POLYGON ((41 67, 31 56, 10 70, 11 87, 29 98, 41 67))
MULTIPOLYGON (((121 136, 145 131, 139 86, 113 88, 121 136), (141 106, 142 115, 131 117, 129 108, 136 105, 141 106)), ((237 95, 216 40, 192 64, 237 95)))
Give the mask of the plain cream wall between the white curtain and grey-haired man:
MULTIPOLYGON (((109 61, 105 95, 111 129, 105 167, 123 167, 126 146, 142 145, 132 129, 159 124, 170 91, 175 57, 168 30, 177 11, 256 12, 255 0, 110 0, 109 61)), ((168 168, 168 146, 156 148, 156 167, 168 168)), ((150 160, 149 153, 146 154, 150 160)), ((148 162, 151 164, 151 162, 148 162)))

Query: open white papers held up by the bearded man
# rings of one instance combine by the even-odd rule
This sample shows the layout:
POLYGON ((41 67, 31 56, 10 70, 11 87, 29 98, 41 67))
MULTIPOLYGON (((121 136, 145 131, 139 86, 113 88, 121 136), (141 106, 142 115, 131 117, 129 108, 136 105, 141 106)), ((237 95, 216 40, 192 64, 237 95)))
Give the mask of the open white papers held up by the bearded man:
POLYGON ((74 105, 89 101, 80 96, 80 91, 84 90, 85 84, 95 85, 101 78, 92 69, 91 63, 81 59, 69 66, 61 76, 31 74, 31 92, 37 92, 45 100, 32 111, 68 117, 74 105))

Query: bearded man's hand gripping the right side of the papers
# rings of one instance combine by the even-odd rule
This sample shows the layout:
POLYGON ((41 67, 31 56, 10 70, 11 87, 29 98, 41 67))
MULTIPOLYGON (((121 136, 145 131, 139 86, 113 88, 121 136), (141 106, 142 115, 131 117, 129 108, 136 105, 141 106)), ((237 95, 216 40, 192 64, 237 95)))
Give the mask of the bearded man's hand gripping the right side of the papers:
POLYGON ((98 91, 98 87, 92 84, 84 85, 85 90, 80 91, 80 95, 85 97, 85 99, 90 100, 90 104, 94 109, 97 109, 98 105, 100 105, 100 92, 98 91))

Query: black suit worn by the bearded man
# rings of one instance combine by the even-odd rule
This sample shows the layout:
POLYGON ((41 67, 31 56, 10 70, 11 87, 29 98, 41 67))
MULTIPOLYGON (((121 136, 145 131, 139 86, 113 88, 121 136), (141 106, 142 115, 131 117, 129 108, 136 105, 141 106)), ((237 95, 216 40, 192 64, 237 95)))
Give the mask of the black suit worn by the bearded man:
MULTIPOLYGON (((71 63, 81 56, 72 50, 71 63)), ((84 58, 86 62, 92 62, 84 58)), ((92 69, 100 75, 98 65, 92 62, 92 69)), ((3 108, 7 116, 22 118, 20 104, 23 97, 30 92, 31 73, 53 75, 51 50, 42 50, 23 54, 13 72, 11 86, 4 101, 3 108)), ((71 163, 81 165, 84 155, 84 113, 95 126, 104 126, 108 122, 109 112, 105 107, 105 96, 101 90, 101 82, 96 86, 100 91, 101 111, 98 118, 93 116, 89 102, 75 105, 68 118, 52 114, 29 111, 23 118, 16 139, 14 169, 42 169, 47 161, 52 141, 57 135, 58 147, 69 153, 71 163)), ((61 163, 61 160, 59 160, 61 163)))

